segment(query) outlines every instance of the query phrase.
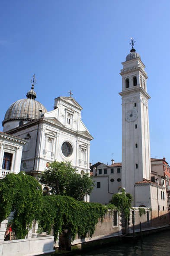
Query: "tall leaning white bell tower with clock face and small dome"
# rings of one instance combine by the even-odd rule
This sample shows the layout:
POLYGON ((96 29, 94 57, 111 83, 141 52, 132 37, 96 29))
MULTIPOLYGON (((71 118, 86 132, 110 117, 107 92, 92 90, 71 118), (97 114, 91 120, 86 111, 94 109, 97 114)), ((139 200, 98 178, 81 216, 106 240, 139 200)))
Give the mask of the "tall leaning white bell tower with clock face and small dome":
POLYGON ((141 57, 133 48, 122 62, 122 187, 132 194, 135 202, 134 184, 150 180, 151 154, 146 80, 147 73, 141 57))

